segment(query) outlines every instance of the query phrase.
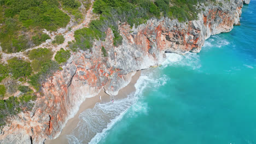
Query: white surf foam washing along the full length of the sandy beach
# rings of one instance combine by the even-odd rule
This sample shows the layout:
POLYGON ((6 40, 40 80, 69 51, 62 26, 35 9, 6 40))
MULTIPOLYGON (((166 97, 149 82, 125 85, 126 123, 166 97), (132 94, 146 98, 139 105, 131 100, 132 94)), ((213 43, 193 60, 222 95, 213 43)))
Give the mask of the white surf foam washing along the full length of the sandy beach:
POLYGON ((148 105, 142 98, 144 90, 150 87, 160 87, 166 84, 166 75, 161 76, 157 70, 144 71, 135 84, 136 91, 125 99, 115 100, 114 103, 97 103, 93 109, 88 109, 79 115, 79 123, 72 135, 67 135, 69 143, 98 143, 108 131, 127 113, 136 117, 139 113, 147 115, 148 105))

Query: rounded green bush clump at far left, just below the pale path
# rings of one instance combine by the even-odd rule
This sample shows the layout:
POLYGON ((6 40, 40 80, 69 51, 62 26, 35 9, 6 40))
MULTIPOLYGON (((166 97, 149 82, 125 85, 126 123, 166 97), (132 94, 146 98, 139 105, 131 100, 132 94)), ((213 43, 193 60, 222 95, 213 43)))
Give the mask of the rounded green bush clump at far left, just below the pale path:
POLYGON ((27 77, 32 73, 32 68, 29 62, 22 61, 17 57, 11 58, 8 61, 8 68, 14 79, 19 77, 27 77))

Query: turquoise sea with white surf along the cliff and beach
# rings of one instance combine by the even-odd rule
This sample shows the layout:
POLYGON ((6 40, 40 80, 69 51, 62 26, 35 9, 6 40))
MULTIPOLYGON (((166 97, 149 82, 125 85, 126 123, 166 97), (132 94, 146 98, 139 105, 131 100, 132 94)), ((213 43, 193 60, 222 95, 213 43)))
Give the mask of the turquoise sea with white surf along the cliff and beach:
POLYGON ((167 53, 129 98, 80 114, 69 143, 256 143, 256 1, 242 11, 200 53, 167 53))

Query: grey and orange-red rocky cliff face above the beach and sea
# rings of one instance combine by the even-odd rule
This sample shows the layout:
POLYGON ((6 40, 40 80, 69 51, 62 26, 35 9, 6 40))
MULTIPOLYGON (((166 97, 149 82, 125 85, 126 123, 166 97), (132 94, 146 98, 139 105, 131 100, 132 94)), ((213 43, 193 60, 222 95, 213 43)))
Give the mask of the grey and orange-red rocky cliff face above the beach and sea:
POLYGON ((104 88, 109 95, 130 82, 134 71, 159 65, 165 52, 200 52, 205 39, 229 32, 240 25, 242 0, 221 1, 203 6, 198 20, 178 22, 162 17, 130 28, 119 26, 123 44, 113 46, 113 33, 107 30, 105 41, 95 41, 91 50, 72 53, 63 70, 57 71, 37 94, 32 112, 22 112, 0 133, 0 143, 43 143, 57 137, 79 105, 104 88), (102 46, 107 57, 102 56, 102 46))

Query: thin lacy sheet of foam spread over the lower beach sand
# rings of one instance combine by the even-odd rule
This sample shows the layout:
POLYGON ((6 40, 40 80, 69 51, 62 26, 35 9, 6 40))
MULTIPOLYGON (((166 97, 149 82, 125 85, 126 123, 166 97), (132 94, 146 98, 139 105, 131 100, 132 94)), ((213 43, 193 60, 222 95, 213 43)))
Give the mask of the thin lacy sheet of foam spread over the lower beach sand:
POLYGON ((133 98, 115 100, 114 103, 97 103, 93 109, 85 110, 79 115, 79 123, 73 130, 72 136, 67 137, 69 143, 74 142, 74 137, 78 140, 75 143, 88 143, 97 133, 107 128, 111 119, 119 116, 121 112, 127 110, 133 103, 133 98), (130 99, 130 100, 128 100, 130 99))

